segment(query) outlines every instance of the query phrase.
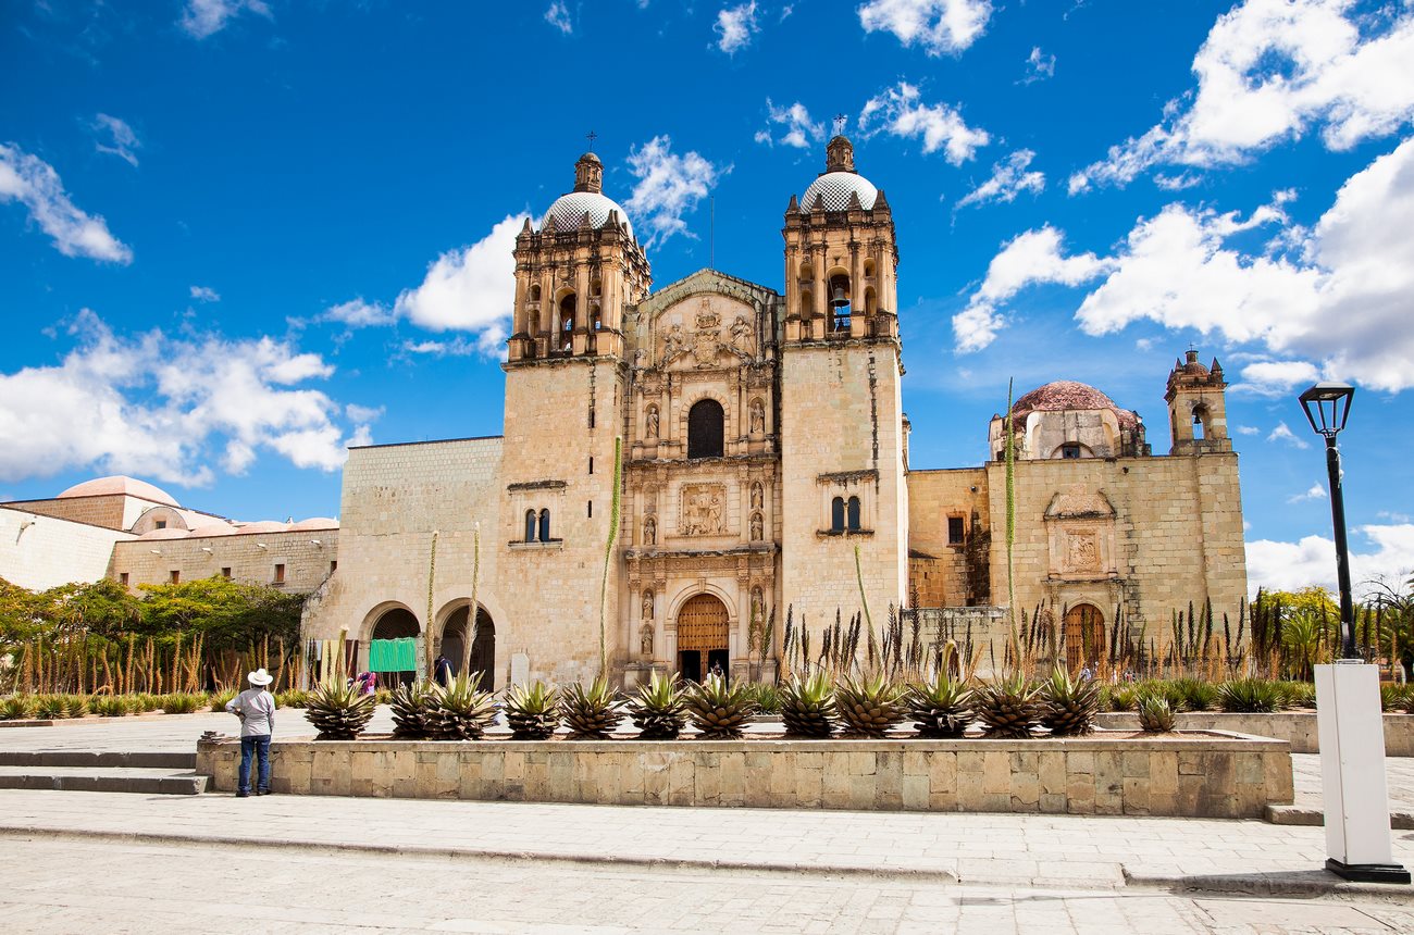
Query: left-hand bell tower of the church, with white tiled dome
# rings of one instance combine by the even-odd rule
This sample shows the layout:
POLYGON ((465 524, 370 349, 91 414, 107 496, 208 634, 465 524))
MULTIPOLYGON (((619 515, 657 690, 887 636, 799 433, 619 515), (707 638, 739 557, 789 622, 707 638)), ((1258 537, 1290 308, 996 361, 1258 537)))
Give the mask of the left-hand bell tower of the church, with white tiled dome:
MULTIPOLYGON (((595 569, 609 531, 614 438, 626 394, 624 309, 652 284, 632 226, 602 182, 600 158, 581 155, 574 191, 550 205, 539 230, 527 219, 515 247, 496 545, 501 592, 523 600, 513 602, 498 638, 512 668, 520 653, 554 660, 557 681, 590 679, 598 669, 595 569)), ((611 564, 611 664, 622 650, 612 623, 618 573, 611 564)))

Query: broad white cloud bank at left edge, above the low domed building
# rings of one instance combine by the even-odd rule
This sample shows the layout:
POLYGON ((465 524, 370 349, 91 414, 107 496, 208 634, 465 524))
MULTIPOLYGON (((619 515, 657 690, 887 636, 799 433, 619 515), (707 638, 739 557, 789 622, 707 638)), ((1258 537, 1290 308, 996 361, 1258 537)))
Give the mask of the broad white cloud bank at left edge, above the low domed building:
POLYGON ((344 463, 341 407, 301 386, 334 373, 318 355, 271 338, 122 336, 88 309, 71 333, 59 364, 0 373, 0 479, 93 466, 205 484, 218 451, 239 473, 262 448, 301 468, 344 463))

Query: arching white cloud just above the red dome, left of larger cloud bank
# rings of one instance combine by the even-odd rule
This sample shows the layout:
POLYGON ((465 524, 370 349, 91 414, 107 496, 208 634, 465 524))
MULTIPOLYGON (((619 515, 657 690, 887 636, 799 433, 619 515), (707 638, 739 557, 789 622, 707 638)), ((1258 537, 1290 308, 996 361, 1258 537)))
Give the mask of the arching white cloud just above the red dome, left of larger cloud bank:
POLYGON ((1001 305, 1034 282, 1079 285, 1111 268, 1111 261, 1093 253, 1065 257, 1062 234, 1049 225, 1008 240, 987 266, 987 278, 977 287, 967 308, 953 316, 959 353, 981 350, 1005 326, 1001 305))

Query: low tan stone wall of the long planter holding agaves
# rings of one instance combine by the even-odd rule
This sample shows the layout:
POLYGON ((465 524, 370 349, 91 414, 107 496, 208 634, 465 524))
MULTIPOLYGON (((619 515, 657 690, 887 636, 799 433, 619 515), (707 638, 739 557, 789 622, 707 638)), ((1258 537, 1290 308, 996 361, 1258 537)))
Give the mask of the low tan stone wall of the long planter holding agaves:
MULTIPOLYGON (((273 788, 516 802, 1260 818, 1292 801, 1282 742, 276 740, 273 788)), ((197 747, 233 791, 239 742, 197 747)))

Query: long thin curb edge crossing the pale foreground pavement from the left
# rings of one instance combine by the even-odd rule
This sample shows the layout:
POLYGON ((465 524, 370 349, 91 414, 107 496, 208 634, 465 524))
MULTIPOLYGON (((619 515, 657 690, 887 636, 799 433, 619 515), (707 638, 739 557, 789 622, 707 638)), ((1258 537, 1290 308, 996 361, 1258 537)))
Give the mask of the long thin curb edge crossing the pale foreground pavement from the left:
POLYGON ((669 870, 694 873, 778 873, 812 877, 860 877, 870 880, 906 879, 916 883, 957 883, 957 874, 950 870, 908 870, 874 869, 848 866, 810 866, 759 863, 751 860, 694 860, 686 857, 632 857, 621 854, 560 854, 534 850, 472 850, 467 847, 428 847, 421 845, 358 845, 351 842, 310 843, 298 840, 253 840, 223 835, 165 835, 158 832, 122 830, 74 830, 34 828, 24 825, 0 825, 0 838, 66 838, 74 840, 115 840, 143 845, 218 845, 223 847, 279 849, 300 852, 337 850, 354 854, 451 857, 460 860, 508 860, 536 863, 567 863, 602 867, 641 867, 645 870, 669 870))

